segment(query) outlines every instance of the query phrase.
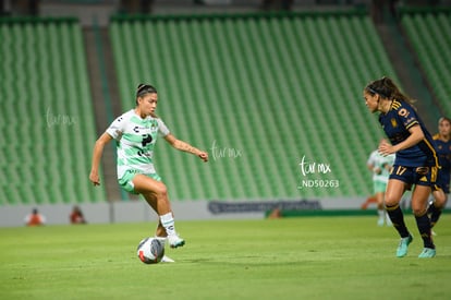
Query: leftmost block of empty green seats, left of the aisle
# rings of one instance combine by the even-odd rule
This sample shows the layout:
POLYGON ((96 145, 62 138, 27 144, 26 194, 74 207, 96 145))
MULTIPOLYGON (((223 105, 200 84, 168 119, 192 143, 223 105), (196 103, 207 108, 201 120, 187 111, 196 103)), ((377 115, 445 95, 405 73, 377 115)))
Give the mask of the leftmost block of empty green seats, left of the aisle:
POLYGON ((96 139, 75 19, 0 19, 0 204, 105 202, 87 179, 96 139))

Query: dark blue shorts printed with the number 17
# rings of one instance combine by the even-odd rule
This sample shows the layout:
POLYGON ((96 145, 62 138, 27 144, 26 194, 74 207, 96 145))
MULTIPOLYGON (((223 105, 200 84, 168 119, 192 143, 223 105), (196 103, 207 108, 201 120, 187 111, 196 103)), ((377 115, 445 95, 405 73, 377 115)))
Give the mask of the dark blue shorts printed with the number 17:
POLYGON ((389 179, 398 179, 409 187, 425 185, 436 188, 437 167, 404 167, 394 165, 390 171, 389 179))

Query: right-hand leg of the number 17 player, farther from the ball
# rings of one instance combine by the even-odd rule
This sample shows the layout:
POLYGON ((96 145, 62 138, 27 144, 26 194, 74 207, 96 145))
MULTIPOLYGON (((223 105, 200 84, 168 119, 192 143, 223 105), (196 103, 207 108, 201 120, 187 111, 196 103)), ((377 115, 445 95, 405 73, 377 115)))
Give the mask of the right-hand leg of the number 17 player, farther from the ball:
POLYGON ((424 250, 418 257, 432 257, 436 255, 436 247, 430 232, 430 219, 427 215, 429 194, 430 187, 419 184, 415 185, 415 190, 412 192, 412 209, 424 243, 424 250))

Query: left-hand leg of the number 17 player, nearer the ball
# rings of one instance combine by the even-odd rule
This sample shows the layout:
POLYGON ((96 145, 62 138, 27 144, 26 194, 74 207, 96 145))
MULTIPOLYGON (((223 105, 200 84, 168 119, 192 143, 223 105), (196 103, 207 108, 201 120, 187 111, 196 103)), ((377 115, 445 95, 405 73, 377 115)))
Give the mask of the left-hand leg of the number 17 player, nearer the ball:
POLYGON ((404 215, 400 207, 400 201, 405 191, 405 183, 399 179, 390 179, 386 191, 386 209, 391 223, 401 237, 397 249, 397 256, 403 257, 407 254, 409 244, 412 242, 412 235, 404 223, 404 215))

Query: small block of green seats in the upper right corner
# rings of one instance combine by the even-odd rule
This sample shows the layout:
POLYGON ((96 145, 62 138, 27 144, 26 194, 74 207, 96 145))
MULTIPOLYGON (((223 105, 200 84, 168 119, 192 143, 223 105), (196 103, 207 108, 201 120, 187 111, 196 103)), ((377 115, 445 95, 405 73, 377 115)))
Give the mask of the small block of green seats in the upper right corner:
POLYGON ((401 24, 446 116, 451 116, 451 10, 404 9, 401 24))

